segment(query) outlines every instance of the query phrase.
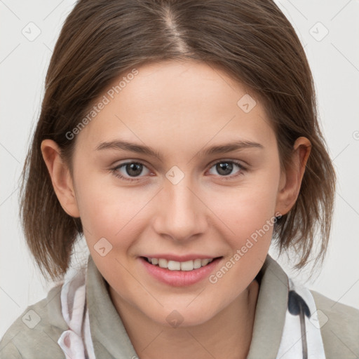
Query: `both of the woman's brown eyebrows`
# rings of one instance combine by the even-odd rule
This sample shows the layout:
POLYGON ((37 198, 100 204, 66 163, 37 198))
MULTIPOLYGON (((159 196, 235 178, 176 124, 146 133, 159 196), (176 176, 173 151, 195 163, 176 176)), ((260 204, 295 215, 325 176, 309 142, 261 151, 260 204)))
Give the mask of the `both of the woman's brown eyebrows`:
MULTIPOLYGON (((240 151, 242 149, 264 149, 262 144, 252 141, 246 140, 238 140, 234 142, 229 142, 226 144, 218 144, 216 146, 212 146, 206 149, 202 149, 198 151, 198 155, 200 156, 208 156, 212 154, 225 154, 231 151, 240 151)), ((133 142, 127 142, 122 140, 116 140, 111 142, 101 142, 97 147, 96 151, 100 151, 102 149, 122 149, 125 151, 135 152, 137 154, 147 154, 149 156, 153 156, 161 160, 162 154, 159 151, 155 151, 151 147, 144 146, 142 144, 136 144, 133 142)))

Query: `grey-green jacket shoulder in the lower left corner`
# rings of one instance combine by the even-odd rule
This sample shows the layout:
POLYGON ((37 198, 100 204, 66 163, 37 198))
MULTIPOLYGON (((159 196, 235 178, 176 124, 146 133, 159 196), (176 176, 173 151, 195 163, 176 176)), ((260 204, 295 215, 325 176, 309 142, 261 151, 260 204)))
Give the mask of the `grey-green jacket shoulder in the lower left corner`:
POLYGON ((0 359, 65 358, 57 340, 67 330, 62 317, 62 284, 53 287, 46 298, 21 313, 0 341, 0 359))

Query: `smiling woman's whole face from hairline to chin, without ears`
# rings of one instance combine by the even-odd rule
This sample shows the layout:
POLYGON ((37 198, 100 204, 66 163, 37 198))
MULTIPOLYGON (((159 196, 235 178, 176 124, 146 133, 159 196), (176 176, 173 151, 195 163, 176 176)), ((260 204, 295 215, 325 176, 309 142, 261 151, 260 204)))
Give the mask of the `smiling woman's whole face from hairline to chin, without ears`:
POLYGON ((84 235, 119 306, 163 325, 174 310, 187 325, 205 323, 266 258, 283 178, 276 135, 262 105, 219 69, 161 62, 137 71, 99 97, 108 103, 76 135, 84 235), (184 270, 143 257, 177 259, 171 268, 184 270), (213 260, 185 270, 201 262, 190 259, 213 260))

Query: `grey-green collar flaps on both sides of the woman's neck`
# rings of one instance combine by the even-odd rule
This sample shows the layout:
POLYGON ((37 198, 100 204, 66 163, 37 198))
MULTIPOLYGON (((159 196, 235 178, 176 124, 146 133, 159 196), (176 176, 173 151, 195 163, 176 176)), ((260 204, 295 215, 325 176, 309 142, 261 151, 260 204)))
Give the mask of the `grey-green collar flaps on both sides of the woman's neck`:
MULTIPOLYGON (((288 278, 279 264, 266 256, 257 274, 259 294, 248 359, 276 358, 287 309, 288 278)), ((107 282, 88 256, 86 302, 96 358, 137 358, 121 317, 111 302, 107 282)))

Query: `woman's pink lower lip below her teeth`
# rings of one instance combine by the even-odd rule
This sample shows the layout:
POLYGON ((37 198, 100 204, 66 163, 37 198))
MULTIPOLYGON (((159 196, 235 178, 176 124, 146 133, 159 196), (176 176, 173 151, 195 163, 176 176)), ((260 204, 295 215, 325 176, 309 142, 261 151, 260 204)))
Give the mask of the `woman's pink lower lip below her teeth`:
POLYGON ((212 262, 201 268, 192 271, 170 271, 167 268, 161 268, 154 264, 149 264, 146 259, 140 257, 140 261, 144 264, 148 273, 162 283, 172 285, 173 287, 184 287, 198 283, 200 280, 208 277, 210 272, 217 266, 221 257, 213 259, 212 262))

